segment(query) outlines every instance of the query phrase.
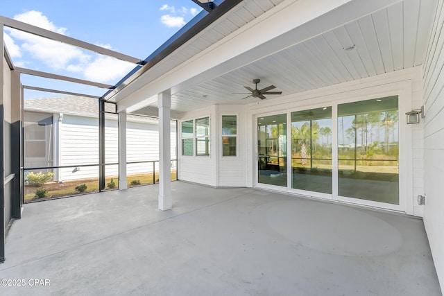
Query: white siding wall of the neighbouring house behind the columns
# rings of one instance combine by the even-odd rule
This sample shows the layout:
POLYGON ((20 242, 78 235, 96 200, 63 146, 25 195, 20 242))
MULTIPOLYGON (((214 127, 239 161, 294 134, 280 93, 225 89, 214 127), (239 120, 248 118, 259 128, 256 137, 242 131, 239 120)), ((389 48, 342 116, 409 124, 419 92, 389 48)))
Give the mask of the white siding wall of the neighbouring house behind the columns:
MULTIPOLYGON (((150 123, 143 119, 128 121, 127 162, 157 161, 159 159, 158 125, 155 120, 150 123)), ((63 116, 60 124, 60 163, 58 166, 70 166, 59 169, 59 180, 79 180, 98 178, 99 166, 78 166, 83 164, 99 164, 99 121, 92 117, 63 116), (75 170, 76 166, 78 169, 75 170)), ((114 164, 119 161, 119 137, 117 121, 105 121, 105 162, 114 164)), ((176 123, 171 122, 171 159, 176 159, 176 123)), ((176 167, 173 162, 172 167, 176 167)), ((158 171, 158 164, 156 171, 158 171)), ((147 173, 153 170, 152 163, 129 164, 128 176, 147 173)), ((106 166, 106 176, 117 177, 118 165, 106 166)))

